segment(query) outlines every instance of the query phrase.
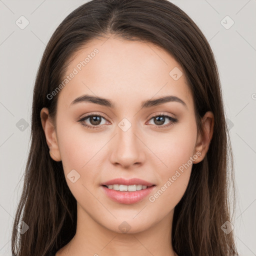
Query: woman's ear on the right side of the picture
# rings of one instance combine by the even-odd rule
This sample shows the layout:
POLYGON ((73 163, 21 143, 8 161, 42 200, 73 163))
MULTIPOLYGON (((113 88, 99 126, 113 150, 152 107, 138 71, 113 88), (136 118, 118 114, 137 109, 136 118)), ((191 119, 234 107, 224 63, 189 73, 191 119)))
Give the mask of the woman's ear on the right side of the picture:
POLYGON ((211 111, 207 111, 201 118, 202 123, 202 134, 198 134, 196 145, 194 148, 194 153, 198 155, 200 152, 200 157, 194 160, 194 163, 200 162, 208 151, 210 140, 213 134, 214 126, 214 115, 211 111))

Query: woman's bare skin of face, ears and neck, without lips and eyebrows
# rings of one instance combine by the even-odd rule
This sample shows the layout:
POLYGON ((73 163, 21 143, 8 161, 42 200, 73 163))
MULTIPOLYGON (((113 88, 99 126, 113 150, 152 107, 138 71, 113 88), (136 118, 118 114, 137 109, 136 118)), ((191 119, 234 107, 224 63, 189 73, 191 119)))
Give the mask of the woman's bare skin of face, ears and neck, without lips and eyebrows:
MULTIPOLYGON (((213 114, 202 117, 203 134, 197 134, 194 102, 185 73, 179 63, 162 48, 139 41, 114 37, 93 39, 77 51, 66 75, 97 48, 99 52, 58 93, 56 125, 42 108, 41 122, 50 155, 62 161, 66 182, 77 201, 77 229, 72 240, 56 256, 63 255, 176 255, 171 246, 171 227, 175 205, 185 192, 192 164, 150 202, 148 197, 196 152, 205 156, 213 132, 213 114), (178 67, 183 75, 174 80, 169 72, 178 67), (71 102, 83 94, 112 100, 115 108, 90 102, 71 102), (166 102, 140 108, 142 101, 174 95, 179 102, 166 102), (82 126, 79 118, 101 114, 98 129, 82 126), (154 114, 178 119, 171 123, 154 120, 154 114), (118 123, 126 118, 127 131, 118 123), (80 178, 72 183, 67 174, 75 169, 80 178), (138 177, 156 186, 141 201, 123 204, 102 192, 100 183, 115 177, 138 177), (126 221, 130 229, 118 226, 126 221)), ((89 118, 84 123, 95 126, 89 118)))

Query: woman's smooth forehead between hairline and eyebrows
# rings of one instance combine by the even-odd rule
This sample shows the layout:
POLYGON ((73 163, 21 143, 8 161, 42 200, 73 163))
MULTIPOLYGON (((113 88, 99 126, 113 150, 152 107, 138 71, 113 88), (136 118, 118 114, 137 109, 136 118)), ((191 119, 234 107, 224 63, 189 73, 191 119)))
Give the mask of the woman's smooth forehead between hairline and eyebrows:
POLYGON ((58 101, 66 106, 83 94, 126 106, 164 95, 178 96, 188 106, 193 104, 180 64, 167 51, 148 42, 95 38, 73 54, 62 82, 64 79, 68 81, 63 83, 58 101))

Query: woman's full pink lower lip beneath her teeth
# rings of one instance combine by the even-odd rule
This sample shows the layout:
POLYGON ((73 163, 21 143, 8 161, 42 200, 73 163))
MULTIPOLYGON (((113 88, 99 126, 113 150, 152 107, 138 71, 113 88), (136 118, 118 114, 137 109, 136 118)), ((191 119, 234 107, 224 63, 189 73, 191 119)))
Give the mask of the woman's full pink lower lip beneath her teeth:
POLYGON ((107 196, 109 196, 113 201, 125 203, 125 204, 131 204, 138 202, 145 198, 155 187, 155 185, 149 186, 145 189, 137 190, 137 191, 117 191, 114 189, 109 189, 106 186, 101 185, 104 192, 107 196))

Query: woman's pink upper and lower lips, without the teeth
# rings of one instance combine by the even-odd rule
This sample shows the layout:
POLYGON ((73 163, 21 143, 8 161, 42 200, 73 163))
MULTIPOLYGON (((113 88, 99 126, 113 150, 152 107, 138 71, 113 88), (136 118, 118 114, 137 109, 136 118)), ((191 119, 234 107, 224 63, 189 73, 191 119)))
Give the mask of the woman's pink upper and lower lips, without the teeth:
POLYGON ((131 203, 135 203, 142 200, 146 195, 148 195, 152 191, 155 185, 139 178, 131 178, 128 180, 123 178, 115 178, 102 183, 101 187, 104 193, 108 197, 110 197, 113 201, 124 203, 124 204, 131 204, 131 203), (130 191, 117 191, 114 189, 109 189, 106 186, 104 186, 104 185, 112 185, 112 184, 123 184, 123 185, 141 184, 141 185, 146 185, 148 187, 145 189, 130 192, 130 191))

